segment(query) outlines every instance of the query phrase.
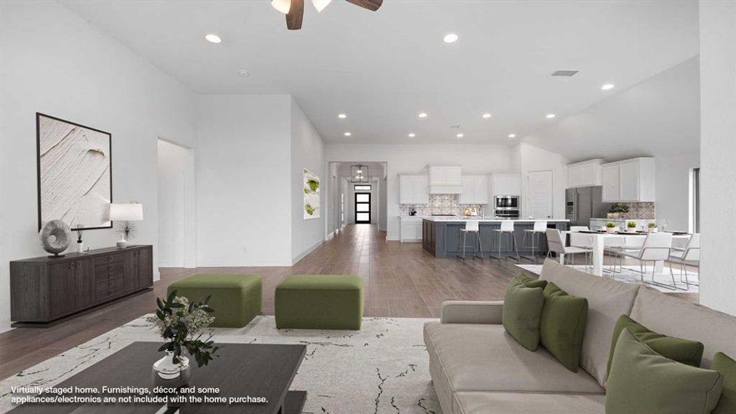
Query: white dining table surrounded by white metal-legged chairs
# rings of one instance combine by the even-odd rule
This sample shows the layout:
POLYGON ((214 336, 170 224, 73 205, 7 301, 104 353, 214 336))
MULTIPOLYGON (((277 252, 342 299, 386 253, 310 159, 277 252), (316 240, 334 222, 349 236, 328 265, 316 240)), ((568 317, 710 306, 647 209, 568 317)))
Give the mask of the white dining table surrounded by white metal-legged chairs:
MULTIPOLYGON (((643 231, 637 231, 631 233, 627 231, 618 231, 615 233, 609 233, 607 231, 564 231, 562 232, 565 236, 570 236, 570 245, 587 245, 592 247, 592 273, 597 276, 603 276, 603 259, 604 259, 604 248, 606 241, 613 242, 618 241, 617 244, 623 242, 627 248, 640 248, 644 244, 644 239, 647 234, 643 231), (588 239, 586 242, 585 239, 588 239)), ((684 246, 687 244, 687 240, 690 239, 690 234, 683 232, 672 232, 672 242, 674 247, 684 246)), ((565 263, 565 255, 559 255, 559 262, 565 263)), ((665 262, 658 260, 654 262, 654 272, 662 273, 664 270, 665 262)))

